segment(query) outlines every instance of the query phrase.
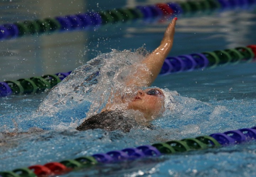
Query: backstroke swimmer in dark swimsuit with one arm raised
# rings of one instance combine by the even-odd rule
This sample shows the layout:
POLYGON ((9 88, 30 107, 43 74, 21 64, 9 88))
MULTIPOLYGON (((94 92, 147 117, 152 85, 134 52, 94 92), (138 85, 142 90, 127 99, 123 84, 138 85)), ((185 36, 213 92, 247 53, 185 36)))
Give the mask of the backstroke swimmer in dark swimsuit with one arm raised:
MULTIPOLYGON (((140 68, 137 68, 135 74, 127 76, 124 83, 125 85, 147 87, 153 83, 160 73, 164 60, 172 48, 176 20, 176 17, 172 19, 159 47, 140 63, 144 64, 148 70, 140 70, 140 68), (141 80, 143 80, 143 82, 140 82, 141 80)), ((141 112, 146 121, 158 118, 165 111, 165 96, 163 91, 159 88, 138 90, 137 95, 132 100, 115 93, 114 99, 108 101, 101 113, 86 119, 76 130, 83 131, 99 128, 108 131, 123 130, 124 132, 129 132, 133 127, 132 125, 135 125, 137 122, 135 119, 130 119, 127 115, 125 116, 122 110, 116 109, 116 105, 122 103, 127 103, 128 106, 126 110, 133 109, 141 112)))

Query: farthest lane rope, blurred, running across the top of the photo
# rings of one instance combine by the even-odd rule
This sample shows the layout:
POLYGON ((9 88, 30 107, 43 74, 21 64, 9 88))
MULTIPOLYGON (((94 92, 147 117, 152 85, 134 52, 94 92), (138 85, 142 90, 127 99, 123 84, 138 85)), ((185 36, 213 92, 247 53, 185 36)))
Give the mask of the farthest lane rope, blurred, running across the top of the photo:
POLYGON ((53 31, 90 29, 107 23, 127 22, 135 19, 154 21, 159 17, 191 16, 199 13, 210 14, 216 10, 231 10, 240 7, 246 9, 256 4, 256 0, 198 0, 154 5, 118 8, 105 11, 79 13, 44 19, 25 20, 22 22, 0 25, 0 40, 17 36, 43 34, 53 31))

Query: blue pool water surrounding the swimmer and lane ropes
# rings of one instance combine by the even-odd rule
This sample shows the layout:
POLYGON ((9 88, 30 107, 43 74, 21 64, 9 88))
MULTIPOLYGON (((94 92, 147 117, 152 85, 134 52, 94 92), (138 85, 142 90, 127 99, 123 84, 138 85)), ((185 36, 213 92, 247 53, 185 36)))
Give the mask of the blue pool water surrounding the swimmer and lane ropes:
MULTIPOLYGON (((1 2, 1 20, 3 23, 16 22, 147 1, 135 4, 129 1, 44 2, 1 2)), ((254 44, 255 17, 254 8, 180 17, 170 56, 254 44)), ((68 72, 113 48, 120 51, 132 48, 133 51, 146 44, 146 49, 152 51, 160 43, 167 24, 168 21, 161 20, 138 21, 106 25, 96 30, 2 41, 1 81, 68 72)), ((44 98, 49 99, 48 93, 1 97, 0 132, 33 133, 12 137, 0 133, 0 171, 253 127, 256 125, 255 67, 255 63, 227 64, 159 76, 153 86, 177 91, 179 95, 174 96, 176 102, 162 118, 151 122, 154 130, 79 132, 74 128, 85 118, 89 102, 78 105, 67 102, 64 108, 57 106, 57 111, 53 110, 51 115, 38 115, 36 111, 42 108, 44 98)), ((52 110, 51 105, 47 106, 46 110, 52 110)), ((255 141, 251 141, 159 158, 96 165, 64 176, 256 176, 255 148, 255 141)))

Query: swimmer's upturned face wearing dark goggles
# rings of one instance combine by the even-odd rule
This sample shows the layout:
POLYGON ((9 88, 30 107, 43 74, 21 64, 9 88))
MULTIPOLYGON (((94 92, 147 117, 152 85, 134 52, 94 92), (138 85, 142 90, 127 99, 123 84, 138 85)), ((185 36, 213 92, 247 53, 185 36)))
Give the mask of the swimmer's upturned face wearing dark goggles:
POLYGON ((161 89, 138 90, 128 109, 139 110, 147 120, 152 120, 164 112, 164 103, 165 96, 161 89))

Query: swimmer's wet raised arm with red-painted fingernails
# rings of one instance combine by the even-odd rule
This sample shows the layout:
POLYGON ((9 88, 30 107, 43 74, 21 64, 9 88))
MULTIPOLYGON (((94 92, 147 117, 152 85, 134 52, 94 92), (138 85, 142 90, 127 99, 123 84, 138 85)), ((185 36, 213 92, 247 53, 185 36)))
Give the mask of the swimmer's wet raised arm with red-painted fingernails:
POLYGON ((172 22, 168 25, 161 44, 142 61, 142 64, 146 65, 151 74, 146 73, 145 71, 138 71, 133 74, 130 79, 127 80, 126 85, 134 84, 137 86, 150 86, 152 82, 154 82, 154 80, 160 73, 165 58, 171 51, 175 33, 176 20, 177 17, 172 19, 172 22), (143 83, 146 83, 146 85, 142 85, 142 82, 138 82, 140 80, 144 80, 143 83))

